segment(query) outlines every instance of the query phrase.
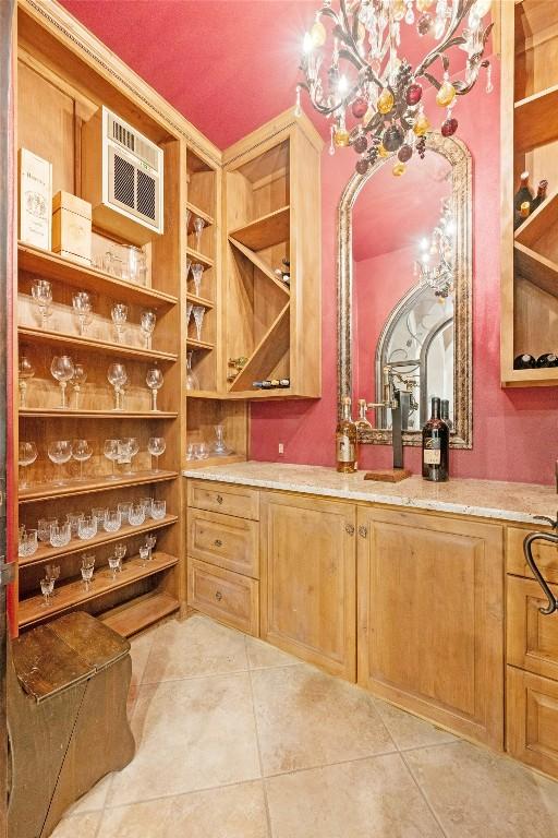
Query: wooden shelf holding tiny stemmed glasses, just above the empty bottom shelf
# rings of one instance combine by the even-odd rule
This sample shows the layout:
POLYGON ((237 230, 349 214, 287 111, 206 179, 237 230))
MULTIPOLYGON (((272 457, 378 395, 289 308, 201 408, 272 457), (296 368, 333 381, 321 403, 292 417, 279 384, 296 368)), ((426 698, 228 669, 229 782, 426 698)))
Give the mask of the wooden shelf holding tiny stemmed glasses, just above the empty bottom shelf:
POLYGON ((178 559, 167 553, 155 552, 150 562, 143 563, 138 558, 131 559, 122 565, 122 572, 112 578, 112 572, 107 567, 99 570, 93 577, 89 590, 85 590, 81 579, 62 583, 54 588, 56 596, 50 606, 44 604, 40 594, 20 602, 20 627, 33 625, 43 622, 43 620, 60 614, 71 608, 75 608, 83 602, 89 602, 94 599, 105 596, 112 590, 132 585, 140 579, 153 576, 156 573, 172 567, 178 563, 178 559))

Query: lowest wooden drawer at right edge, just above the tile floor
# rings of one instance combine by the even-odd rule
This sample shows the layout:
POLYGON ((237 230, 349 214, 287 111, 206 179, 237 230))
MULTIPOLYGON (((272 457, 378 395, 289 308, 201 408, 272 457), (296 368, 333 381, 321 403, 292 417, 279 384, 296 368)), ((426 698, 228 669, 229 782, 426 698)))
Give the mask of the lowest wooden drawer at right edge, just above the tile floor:
POLYGON ((508 667, 507 750, 558 778, 558 683, 508 667))

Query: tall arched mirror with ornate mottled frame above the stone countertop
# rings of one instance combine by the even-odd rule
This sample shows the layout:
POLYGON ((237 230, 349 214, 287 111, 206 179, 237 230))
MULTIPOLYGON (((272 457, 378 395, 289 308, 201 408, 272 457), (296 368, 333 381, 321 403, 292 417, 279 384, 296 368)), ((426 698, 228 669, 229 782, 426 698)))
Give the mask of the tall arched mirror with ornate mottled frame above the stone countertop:
POLYGON ((420 445, 439 396, 450 445, 469 448, 471 157, 461 141, 433 132, 402 177, 396 161, 378 158, 353 175, 339 204, 339 402, 365 399, 373 430, 360 442, 390 443, 396 417, 403 444, 420 445))

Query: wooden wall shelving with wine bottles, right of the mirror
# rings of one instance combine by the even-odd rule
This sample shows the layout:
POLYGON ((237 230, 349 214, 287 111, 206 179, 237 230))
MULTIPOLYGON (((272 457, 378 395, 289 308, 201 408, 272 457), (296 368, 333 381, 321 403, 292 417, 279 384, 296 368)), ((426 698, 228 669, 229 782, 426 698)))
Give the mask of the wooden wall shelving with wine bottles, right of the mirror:
POLYGON ((519 355, 558 351, 558 27, 553 0, 501 3, 501 383, 551 386, 558 369, 514 370, 519 355), (511 69, 513 68, 513 72, 511 69), (548 197, 513 231, 522 171, 548 197))

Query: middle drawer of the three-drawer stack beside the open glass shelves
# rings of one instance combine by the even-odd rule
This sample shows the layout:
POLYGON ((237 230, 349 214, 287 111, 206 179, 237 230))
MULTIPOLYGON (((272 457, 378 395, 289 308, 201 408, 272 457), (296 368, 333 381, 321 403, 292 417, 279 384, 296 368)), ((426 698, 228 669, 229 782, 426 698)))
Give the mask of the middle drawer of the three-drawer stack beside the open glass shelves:
POLYGON ((255 520, 190 508, 187 551, 194 559, 226 571, 259 577, 259 524, 255 520))

